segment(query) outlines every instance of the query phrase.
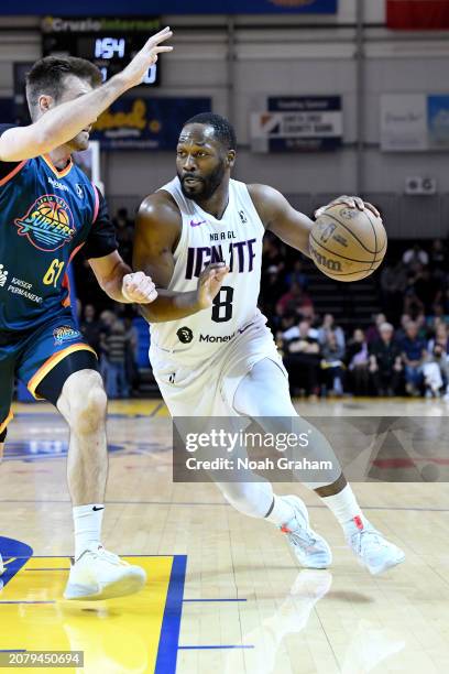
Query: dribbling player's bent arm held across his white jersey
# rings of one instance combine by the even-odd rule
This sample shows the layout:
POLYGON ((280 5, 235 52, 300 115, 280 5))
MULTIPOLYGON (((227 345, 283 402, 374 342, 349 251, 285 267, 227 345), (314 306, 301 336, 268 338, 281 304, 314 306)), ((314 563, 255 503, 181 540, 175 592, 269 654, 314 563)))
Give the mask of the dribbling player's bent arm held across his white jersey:
POLYGON ((180 230, 179 210, 166 193, 158 192, 144 199, 135 224, 133 268, 150 274, 156 284, 157 300, 140 307, 149 323, 177 320, 209 307, 229 271, 221 262, 209 264, 195 291, 168 291, 180 230))

